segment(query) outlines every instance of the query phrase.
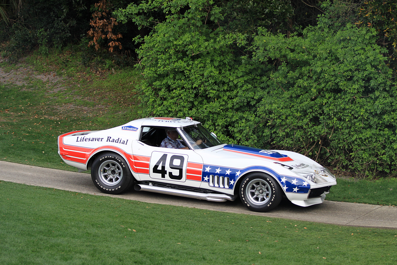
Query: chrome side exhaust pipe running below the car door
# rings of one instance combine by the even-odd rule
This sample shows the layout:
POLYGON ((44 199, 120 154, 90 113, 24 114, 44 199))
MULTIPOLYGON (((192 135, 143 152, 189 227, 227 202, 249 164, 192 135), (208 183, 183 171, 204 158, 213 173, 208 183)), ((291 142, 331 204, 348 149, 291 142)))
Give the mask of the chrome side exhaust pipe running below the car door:
POLYGON ((137 191, 138 190, 152 191, 152 192, 157 192, 157 193, 162 193, 162 194, 177 195, 177 196, 188 197, 188 198, 199 199, 199 200, 207 200, 207 201, 223 202, 223 201, 234 201, 236 199, 235 196, 232 197, 232 196, 225 195, 225 194, 201 193, 201 192, 188 191, 188 190, 177 190, 177 189, 172 189, 172 188, 150 186, 150 185, 145 185, 145 184, 136 184, 134 186, 134 189, 137 191))

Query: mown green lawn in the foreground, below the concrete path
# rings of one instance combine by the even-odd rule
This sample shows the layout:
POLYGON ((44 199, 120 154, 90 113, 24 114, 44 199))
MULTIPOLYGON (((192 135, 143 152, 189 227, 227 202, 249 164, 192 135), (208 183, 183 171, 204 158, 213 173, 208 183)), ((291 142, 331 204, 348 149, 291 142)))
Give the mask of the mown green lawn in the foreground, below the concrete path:
POLYGON ((397 232, 0 182, 0 264, 395 264, 397 232))

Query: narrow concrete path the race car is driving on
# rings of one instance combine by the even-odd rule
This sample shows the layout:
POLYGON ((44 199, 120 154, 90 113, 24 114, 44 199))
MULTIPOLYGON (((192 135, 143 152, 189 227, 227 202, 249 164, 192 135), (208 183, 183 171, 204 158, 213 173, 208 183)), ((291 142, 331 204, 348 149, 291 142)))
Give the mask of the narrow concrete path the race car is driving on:
POLYGON ((119 195, 109 195, 97 190, 93 185, 91 176, 86 173, 40 168, 5 161, 0 161, 0 180, 148 203, 328 224, 397 229, 397 207, 391 206, 324 201, 322 204, 300 207, 289 201, 282 201, 272 211, 255 213, 246 209, 239 200, 217 203, 146 191, 128 191, 119 195))

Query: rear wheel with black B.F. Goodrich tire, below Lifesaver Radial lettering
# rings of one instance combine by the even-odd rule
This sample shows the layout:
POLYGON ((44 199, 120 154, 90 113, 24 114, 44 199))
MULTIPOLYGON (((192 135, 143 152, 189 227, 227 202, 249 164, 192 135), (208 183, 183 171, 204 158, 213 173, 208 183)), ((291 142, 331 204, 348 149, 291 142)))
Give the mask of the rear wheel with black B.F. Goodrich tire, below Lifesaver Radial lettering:
POLYGON ((96 157, 91 166, 91 178, 98 190, 108 194, 119 194, 134 184, 127 162, 115 153, 96 157))

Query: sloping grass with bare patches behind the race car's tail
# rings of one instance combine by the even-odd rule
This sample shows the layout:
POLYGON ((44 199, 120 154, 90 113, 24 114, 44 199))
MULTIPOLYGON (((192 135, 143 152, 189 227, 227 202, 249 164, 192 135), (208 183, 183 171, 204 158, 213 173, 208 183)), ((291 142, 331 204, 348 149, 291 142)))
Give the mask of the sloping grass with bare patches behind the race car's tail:
MULTIPOLYGON (((28 68, 33 74, 25 74, 23 85, 12 84, 12 77, 0 80, 0 160, 75 170, 59 159, 58 135, 74 130, 108 129, 141 118, 135 92, 137 72, 127 69, 98 76, 89 69, 71 65, 75 72, 69 69, 67 76, 42 81, 39 75, 63 73, 42 66, 54 63, 59 56, 28 57, 28 68)), ((69 57, 62 60, 76 60, 72 55, 69 57)), ((0 66, 9 71, 25 67, 6 63, 0 66)))

